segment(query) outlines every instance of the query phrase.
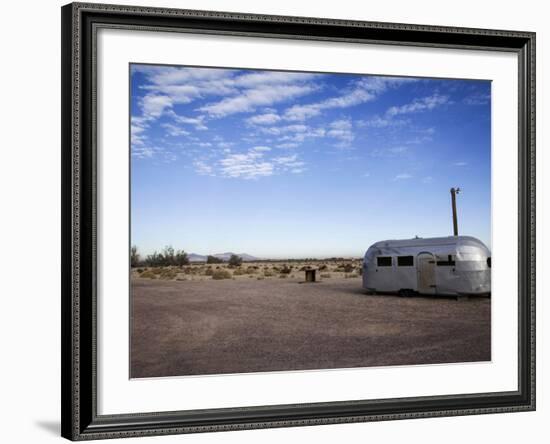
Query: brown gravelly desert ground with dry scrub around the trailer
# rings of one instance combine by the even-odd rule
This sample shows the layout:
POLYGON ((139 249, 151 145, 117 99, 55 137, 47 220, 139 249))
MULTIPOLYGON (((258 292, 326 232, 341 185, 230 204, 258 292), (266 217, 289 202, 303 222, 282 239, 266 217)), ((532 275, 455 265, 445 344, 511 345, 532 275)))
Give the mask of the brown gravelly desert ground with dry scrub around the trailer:
POLYGON ((360 261, 136 269, 131 377, 491 359, 490 299, 367 295, 359 270, 360 261), (303 283, 312 265, 320 280, 303 283))

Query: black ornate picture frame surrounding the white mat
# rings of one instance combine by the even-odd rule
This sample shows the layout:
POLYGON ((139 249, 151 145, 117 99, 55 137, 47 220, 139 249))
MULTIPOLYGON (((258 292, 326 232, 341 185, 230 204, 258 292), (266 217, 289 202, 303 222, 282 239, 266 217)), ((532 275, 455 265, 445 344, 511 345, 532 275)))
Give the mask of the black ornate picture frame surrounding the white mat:
POLYGON ((535 33, 72 3, 62 7, 62 436, 70 440, 535 409, 535 33), (519 66, 518 390, 98 415, 96 91, 99 27, 506 51, 519 66))

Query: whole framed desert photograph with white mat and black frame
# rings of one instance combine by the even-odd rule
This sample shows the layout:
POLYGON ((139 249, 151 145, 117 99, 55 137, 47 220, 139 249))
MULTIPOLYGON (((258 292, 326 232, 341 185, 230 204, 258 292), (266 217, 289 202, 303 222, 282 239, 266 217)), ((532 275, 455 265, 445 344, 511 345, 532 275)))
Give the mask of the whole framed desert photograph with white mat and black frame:
POLYGON ((535 409, 535 35, 62 8, 62 435, 535 409))

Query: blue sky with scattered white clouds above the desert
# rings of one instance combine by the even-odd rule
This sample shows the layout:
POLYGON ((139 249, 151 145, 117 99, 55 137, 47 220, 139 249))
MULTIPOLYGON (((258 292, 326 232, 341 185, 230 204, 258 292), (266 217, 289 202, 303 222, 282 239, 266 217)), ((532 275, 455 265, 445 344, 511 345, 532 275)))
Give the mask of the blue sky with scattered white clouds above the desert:
POLYGON ((132 244, 262 258, 491 247, 491 83, 130 66, 132 244))

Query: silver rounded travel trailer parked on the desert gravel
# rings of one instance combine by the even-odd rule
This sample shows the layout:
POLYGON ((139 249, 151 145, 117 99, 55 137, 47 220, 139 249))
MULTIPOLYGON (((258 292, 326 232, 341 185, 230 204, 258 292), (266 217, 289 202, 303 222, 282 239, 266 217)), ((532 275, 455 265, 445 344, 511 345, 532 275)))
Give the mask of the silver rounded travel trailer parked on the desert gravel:
POLYGON ((475 237, 377 242, 363 260, 369 293, 490 295, 491 252, 475 237))

